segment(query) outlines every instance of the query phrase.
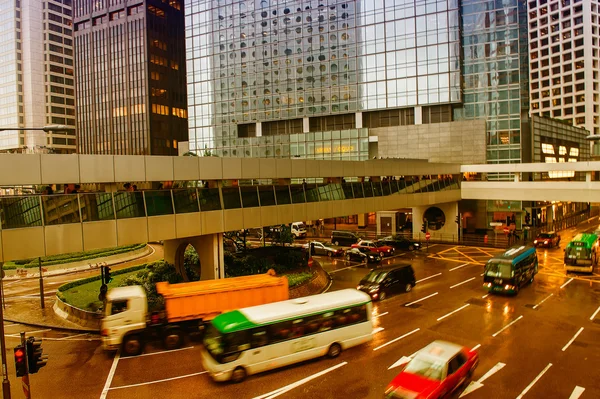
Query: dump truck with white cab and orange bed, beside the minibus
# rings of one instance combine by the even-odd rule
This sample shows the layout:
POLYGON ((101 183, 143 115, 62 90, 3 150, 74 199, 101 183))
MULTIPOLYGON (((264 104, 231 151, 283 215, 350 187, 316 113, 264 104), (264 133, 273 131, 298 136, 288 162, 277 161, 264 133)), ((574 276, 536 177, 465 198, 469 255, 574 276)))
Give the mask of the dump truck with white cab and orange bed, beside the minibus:
POLYGON ((104 349, 139 355, 149 340, 163 341, 167 349, 181 346, 186 334, 201 334, 204 323, 220 313, 289 299, 285 276, 267 274, 191 283, 156 284, 165 302, 164 312, 148 314, 140 286, 113 288, 107 293, 102 319, 104 349))

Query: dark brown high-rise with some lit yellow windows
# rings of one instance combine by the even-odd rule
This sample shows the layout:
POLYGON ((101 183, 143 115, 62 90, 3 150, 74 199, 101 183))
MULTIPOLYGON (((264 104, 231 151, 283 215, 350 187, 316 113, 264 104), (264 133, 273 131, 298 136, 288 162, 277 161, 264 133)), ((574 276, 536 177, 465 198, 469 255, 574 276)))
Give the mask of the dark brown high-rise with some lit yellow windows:
POLYGON ((75 6, 79 152, 177 155, 187 139, 180 0, 75 6))

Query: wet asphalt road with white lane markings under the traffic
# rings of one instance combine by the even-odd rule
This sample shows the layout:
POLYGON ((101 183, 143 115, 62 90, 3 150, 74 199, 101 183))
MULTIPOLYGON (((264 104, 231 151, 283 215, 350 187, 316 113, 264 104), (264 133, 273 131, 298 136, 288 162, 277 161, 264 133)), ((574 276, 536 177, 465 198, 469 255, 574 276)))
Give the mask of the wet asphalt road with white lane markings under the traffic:
MULTIPOLYGON (((563 233, 562 247, 568 239, 563 233)), ((390 367, 435 339, 479 345, 480 365, 474 380, 504 365, 467 398, 567 399, 581 388, 581 398, 600 397, 600 313, 592 318, 600 306, 598 276, 561 274, 562 248, 539 249, 540 273, 532 285, 515 297, 486 295, 482 264, 494 252, 432 245, 428 253, 384 260, 411 263, 418 283, 412 292, 375 303, 375 324, 380 330, 372 342, 344 351, 336 359, 250 376, 241 384, 213 382, 202 369, 197 343, 166 353, 147 347, 144 356, 114 360, 103 353, 97 337, 37 333, 47 337, 44 347, 50 362, 31 376, 32 397, 381 398, 400 370, 390 367)), ((322 264, 333 276, 330 290, 355 287, 369 271, 365 265, 338 259, 324 258, 322 264)), ((9 326, 7 334, 20 328, 9 326)), ((8 363, 12 397, 22 398, 12 361, 17 340, 7 338, 8 363)))

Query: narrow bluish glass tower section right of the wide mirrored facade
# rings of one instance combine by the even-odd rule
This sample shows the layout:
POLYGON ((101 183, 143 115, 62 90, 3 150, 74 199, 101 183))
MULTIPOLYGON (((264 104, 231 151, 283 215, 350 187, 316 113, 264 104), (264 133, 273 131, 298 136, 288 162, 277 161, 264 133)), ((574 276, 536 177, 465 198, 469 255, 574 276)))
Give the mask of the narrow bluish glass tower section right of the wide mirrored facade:
POLYGON ((488 163, 528 161, 530 142, 526 4, 463 0, 464 107, 455 119, 487 120, 488 163))

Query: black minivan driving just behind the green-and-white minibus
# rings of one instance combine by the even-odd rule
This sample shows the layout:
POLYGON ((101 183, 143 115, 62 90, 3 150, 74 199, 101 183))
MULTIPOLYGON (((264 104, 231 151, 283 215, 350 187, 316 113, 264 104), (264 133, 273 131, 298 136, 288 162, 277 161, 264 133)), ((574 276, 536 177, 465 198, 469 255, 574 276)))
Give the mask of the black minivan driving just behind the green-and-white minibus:
POLYGON ((373 300, 384 300, 399 292, 409 292, 416 283, 412 266, 404 264, 371 270, 356 289, 366 292, 373 300))

